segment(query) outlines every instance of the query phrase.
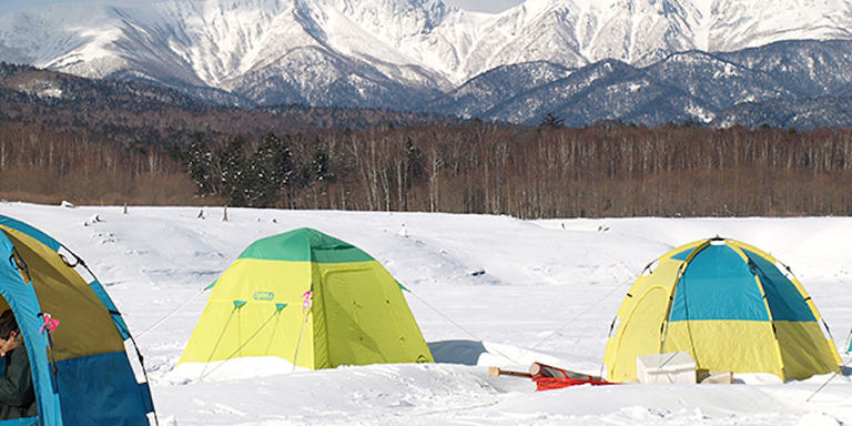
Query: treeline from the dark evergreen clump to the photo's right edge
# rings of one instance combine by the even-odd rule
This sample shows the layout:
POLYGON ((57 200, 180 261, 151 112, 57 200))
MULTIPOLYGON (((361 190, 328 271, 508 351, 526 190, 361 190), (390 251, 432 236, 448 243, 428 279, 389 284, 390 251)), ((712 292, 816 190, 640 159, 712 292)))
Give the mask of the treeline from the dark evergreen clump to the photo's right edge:
POLYGON ((196 134, 179 160, 230 205, 518 217, 852 214, 852 130, 473 122, 196 134))

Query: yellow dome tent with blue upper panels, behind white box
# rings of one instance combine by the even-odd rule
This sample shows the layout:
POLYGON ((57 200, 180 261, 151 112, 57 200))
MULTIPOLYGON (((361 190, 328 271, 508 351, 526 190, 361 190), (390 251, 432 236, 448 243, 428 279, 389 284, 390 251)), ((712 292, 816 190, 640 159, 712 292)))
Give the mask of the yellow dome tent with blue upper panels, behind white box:
POLYGON ((790 270, 733 240, 697 241, 662 255, 630 287, 617 320, 604 358, 612 382, 636 378, 639 355, 679 351, 698 368, 782 381, 838 372, 841 364, 790 270))

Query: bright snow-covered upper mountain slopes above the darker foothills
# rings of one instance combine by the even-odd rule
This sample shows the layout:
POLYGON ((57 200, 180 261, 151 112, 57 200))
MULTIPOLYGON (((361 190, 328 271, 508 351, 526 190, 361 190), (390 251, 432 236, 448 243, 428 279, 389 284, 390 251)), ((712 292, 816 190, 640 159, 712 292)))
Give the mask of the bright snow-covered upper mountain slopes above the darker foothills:
MULTIPOLYGON (((83 77, 104 77, 102 70, 109 68, 83 68, 87 62, 124 60, 129 67, 142 59, 170 59, 176 69, 163 71, 187 83, 227 89, 229 79, 263 68, 281 49, 314 45, 353 59, 422 67, 458 85, 503 64, 548 61, 576 68, 617 59, 643 67, 693 49, 741 50, 792 38, 852 39, 852 2, 824 3, 813 11, 790 7, 797 4, 791 0, 764 0, 748 8, 717 0, 708 17, 701 12, 707 2, 688 0, 527 0, 497 14, 467 12, 438 0, 75 3, 0 16, 7 21, 1 27, 8 29, 0 31, 0 59, 83 77), (768 31, 755 17, 773 9, 780 11, 772 16, 780 17, 768 31), (752 27, 761 30, 748 32, 752 27), (28 45, 30 33, 48 42, 28 45), (19 45, 17 57, 10 53, 12 41, 19 45), (143 48, 156 58, 141 54, 143 48), (176 72, 181 68, 192 73, 182 75, 176 72)), ((430 79, 442 85, 438 77, 430 79)))

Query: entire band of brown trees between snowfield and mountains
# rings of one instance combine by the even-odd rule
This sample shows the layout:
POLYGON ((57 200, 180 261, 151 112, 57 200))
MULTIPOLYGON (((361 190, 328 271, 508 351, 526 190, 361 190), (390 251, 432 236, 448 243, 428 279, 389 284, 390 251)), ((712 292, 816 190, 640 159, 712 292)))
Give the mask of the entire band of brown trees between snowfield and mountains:
POLYGON ((0 121, 0 197, 518 217, 852 214, 849 129, 471 122, 173 138, 129 144, 0 121))

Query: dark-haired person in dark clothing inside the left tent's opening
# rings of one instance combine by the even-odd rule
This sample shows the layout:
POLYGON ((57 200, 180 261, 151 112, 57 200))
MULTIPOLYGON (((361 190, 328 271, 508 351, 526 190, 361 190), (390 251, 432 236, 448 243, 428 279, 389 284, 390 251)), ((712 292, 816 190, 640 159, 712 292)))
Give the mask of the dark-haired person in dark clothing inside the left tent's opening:
POLYGON ((38 414, 36 392, 30 374, 30 358, 18 322, 11 311, 0 315, 0 419, 34 417, 38 414))

